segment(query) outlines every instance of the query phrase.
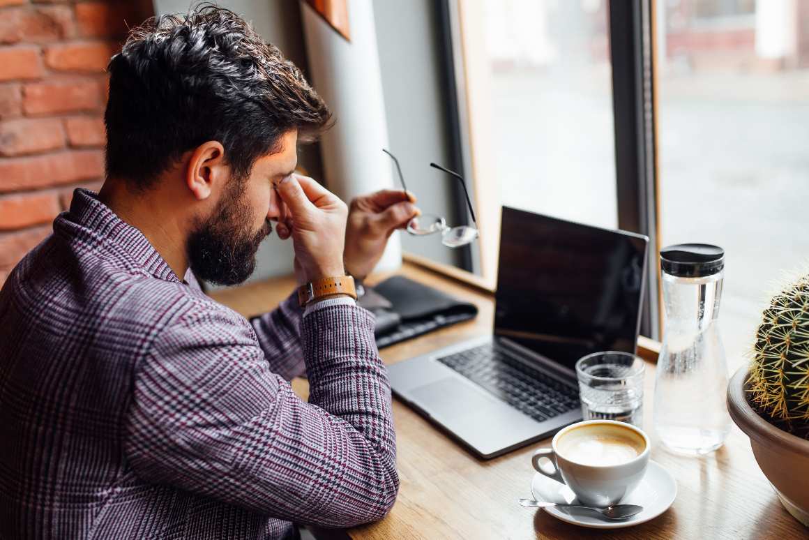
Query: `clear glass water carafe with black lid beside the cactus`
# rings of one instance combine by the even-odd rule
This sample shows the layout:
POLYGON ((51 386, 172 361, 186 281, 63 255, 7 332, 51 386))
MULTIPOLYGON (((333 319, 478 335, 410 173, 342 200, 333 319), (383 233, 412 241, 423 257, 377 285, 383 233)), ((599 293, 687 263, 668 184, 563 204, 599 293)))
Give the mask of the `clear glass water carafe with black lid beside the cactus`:
POLYGON ((727 364, 717 327, 724 255, 707 244, 660 252, 666 317, 655 375, 654 430, 679 453, 713 452, 731 428, 727 364))

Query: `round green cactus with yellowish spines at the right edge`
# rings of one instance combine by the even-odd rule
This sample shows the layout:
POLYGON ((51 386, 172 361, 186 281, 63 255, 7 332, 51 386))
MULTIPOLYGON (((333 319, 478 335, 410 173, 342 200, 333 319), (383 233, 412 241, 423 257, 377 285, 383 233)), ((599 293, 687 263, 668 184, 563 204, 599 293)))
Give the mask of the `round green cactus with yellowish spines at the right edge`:
POLYGON ((809 439, 809 276, 773 297, 752 352, 751 405, 770 423, 809 439))

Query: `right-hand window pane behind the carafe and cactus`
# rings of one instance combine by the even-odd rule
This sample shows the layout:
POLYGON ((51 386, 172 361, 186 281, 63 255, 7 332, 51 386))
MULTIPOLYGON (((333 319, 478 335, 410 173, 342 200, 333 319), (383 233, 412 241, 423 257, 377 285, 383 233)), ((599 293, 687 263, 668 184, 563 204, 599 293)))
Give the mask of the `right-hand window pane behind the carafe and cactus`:
POLYGON ((655 10, 661 240, 726 250, 719 324, 735 368, 770 289, 809 253, 809 4, 655 10))

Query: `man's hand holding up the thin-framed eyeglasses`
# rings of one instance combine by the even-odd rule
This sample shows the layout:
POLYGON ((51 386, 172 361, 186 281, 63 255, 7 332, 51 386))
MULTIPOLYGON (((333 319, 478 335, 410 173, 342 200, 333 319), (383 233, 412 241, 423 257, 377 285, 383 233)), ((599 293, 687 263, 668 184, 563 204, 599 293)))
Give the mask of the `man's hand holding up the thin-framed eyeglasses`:
POLYGON ((413 193, 383 189, 351 201, 345 231, 345 270, 365 279, 388 244, 388 237, 420 215, 413 193))

